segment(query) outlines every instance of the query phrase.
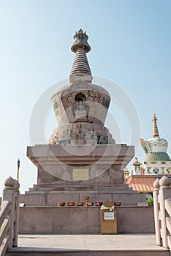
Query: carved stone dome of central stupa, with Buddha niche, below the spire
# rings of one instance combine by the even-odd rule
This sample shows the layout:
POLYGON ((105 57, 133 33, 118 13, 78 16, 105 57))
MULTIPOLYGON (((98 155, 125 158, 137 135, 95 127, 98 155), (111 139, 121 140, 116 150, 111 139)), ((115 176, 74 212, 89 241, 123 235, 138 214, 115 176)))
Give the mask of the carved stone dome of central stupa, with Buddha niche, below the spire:
POLYGON ((104 124, 110 105, 110 94, 102 88, 83 80, 56 89, 52 95, 53 108, 58 124, 79 121, 104 124), (86 110, 86 116, 77 116, 79 104, 86 110))

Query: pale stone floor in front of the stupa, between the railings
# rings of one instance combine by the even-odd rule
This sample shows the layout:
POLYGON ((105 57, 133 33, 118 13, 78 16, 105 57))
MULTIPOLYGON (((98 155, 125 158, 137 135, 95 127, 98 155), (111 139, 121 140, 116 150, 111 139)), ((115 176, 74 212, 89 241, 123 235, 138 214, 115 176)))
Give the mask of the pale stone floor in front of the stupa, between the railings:
POLYGON ((6 256, 170 256, 156 246, 153 234, 124 235, 20 235, 18 248, 6 256))

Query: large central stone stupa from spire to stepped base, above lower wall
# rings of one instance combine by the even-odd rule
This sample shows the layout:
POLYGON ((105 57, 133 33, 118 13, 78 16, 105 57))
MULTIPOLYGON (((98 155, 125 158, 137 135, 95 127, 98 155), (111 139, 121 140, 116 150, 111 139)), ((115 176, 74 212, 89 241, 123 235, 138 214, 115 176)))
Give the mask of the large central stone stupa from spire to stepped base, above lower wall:
POLYGON ((22 197, 26 205, 56 205, 59 201, 145 201, 124 183, 123 168, 134 157, 134 146, 116 144, 104 127, 110 94, 92 82, 86 53, 86 32, 74 36, 75 59, 69 84, 52 95, 58 121, 46 145, 28 146, 27 156, 37 166, 37 184, 22 197))

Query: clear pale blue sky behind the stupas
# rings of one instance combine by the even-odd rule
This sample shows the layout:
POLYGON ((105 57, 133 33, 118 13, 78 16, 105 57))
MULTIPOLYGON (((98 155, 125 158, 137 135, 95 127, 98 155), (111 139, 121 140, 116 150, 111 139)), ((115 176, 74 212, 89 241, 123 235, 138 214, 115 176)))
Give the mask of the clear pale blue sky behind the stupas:
MULTIPOLYGON (((20 191, 37 183, 37 169, 26 157, 31 113, 44 91, 69 77, 72 37, 80 28, 89 37, 92 74, 115 81, 126 91, 138 112, 142 138, 151 138, 156 113, 171 156, 170 0, 1 0, 0 195, 4 179, 16 178, 18 157, 20 191)), ((121 143, 129 144, 121 108, 112 101, 110 112, 121 127, 121 143)), ((46 140, 55 127, 50 111, 46 140)), ((140 147, 136 156, 145 157, 140 147)))

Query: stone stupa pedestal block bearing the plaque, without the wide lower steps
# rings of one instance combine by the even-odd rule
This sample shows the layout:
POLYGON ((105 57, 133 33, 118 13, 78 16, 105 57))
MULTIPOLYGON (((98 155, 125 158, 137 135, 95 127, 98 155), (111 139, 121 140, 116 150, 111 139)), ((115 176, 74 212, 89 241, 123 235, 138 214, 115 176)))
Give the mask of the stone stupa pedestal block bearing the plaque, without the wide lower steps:
POLYGON ((27 157, 37 166, 39 190, 128 190, 123 168, 134 157, 134 146, 37 145, 27 147, 27 157))

